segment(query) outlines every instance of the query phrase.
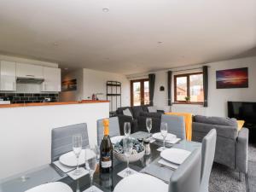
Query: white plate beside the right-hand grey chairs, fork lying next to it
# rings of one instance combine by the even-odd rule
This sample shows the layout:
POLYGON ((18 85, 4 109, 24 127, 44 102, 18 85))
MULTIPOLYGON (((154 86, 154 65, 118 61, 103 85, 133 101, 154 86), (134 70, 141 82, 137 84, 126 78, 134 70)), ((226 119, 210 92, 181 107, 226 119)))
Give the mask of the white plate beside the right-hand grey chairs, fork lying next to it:
POLYGON ((161 152, 160 156, 165 160, 180 165, 189 157, 189 154, 191 154, 190 151, 180 148, 167 148, 161 152))

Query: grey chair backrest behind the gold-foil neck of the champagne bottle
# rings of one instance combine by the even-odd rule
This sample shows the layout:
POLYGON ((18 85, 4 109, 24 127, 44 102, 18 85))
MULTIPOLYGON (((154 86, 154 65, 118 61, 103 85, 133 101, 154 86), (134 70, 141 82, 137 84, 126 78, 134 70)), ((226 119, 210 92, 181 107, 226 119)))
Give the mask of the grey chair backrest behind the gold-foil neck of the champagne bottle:
MULTIPOLYGON (((104 127, 102 123, 103 119, 97 120, 97 142, 98 145, 101 144, 103 135, 104 135, 104 127)), ((109 137, 119 136, 120 129, 119 129, 119 118, 118 117, 111 117, 109 118, 109 137)))

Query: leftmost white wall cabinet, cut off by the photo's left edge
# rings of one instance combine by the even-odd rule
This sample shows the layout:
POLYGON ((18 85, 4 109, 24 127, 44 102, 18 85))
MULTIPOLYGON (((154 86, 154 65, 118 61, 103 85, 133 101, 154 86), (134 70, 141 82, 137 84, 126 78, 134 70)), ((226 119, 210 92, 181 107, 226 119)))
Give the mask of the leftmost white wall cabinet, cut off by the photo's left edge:
POLYGON ((16 90, 16 63, 1 61, 0 65, 0 90, 16 90))

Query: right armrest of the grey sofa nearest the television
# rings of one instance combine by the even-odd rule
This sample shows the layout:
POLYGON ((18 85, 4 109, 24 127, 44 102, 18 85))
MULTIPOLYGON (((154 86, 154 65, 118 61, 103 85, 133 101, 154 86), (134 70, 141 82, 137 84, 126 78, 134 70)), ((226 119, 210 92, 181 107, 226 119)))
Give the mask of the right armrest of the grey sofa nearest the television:
POLYGON ((247 128, 242 128, 241 131, 238 132, 236 147, 237 169, 239 172, 243 173, 247 173, 248 137, 249 131, 247 128))

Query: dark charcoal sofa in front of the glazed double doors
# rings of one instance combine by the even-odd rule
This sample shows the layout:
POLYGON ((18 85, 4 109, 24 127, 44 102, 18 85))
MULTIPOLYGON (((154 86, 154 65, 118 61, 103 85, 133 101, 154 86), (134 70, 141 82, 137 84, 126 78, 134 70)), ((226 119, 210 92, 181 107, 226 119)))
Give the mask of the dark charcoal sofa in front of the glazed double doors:
POLYGON ((123 107, 116 110, 116 116, 119 117, 119 127, 120 133, 123 134, 123 127, 125 122, 131 123, 131 133, 137 131, 147 131, 146 119, 152 119, 152 130, 151 132, 160 131, 160 118, 161 114, 164 113, 162 110, 156 110, 156 112, 148 112, 149 105, 135 106, 135 107, 123 107), (131 116, 125 115, 124 110, 129 109, 131 111, 131 116))

